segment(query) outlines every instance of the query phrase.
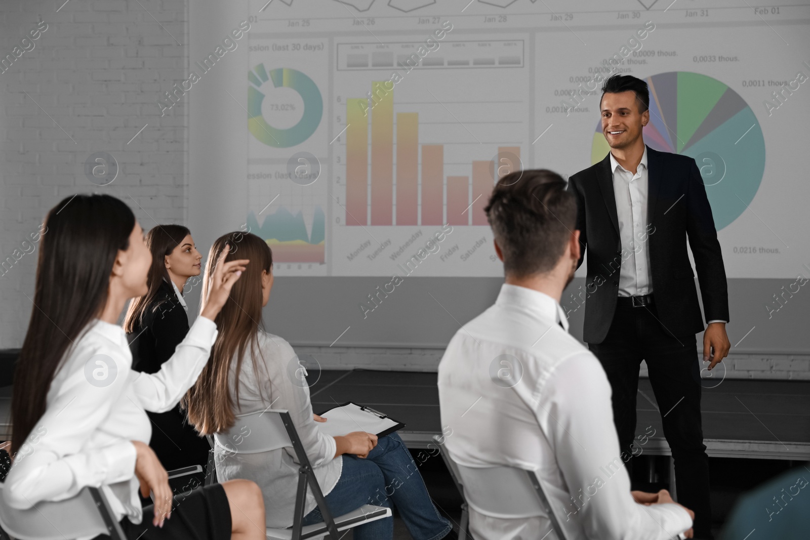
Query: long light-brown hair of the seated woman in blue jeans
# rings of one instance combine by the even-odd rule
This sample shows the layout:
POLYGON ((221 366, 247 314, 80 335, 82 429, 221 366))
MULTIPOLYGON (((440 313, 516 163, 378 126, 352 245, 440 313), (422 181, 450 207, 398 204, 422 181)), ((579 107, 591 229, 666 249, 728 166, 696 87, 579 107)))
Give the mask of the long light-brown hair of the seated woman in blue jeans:
MULTIPOLYGON (((188 410, 189 423, 203 435, 224 432, 236 423, 234 400, 228 388, 228 374, 234 357, 237 359, 236 380, 239 381, 242 358, 250 343, 250 357, 254 373, 258 373, 258 329, 262 323, 262 270, 271 272, 273 253, 267 243, 249 232, 230 232, 220 236, 211 246, 203 279, 203 298, 208 294, 208 280, 225 245, 231 249, 225 261, 249 259, 247 270, 233 284, 231 295, 216 316, 219 333, 211 357, 203 372, 183 397, 182 405, 188 410)), ((236 402, 239 402, 237 382, 236 402)))

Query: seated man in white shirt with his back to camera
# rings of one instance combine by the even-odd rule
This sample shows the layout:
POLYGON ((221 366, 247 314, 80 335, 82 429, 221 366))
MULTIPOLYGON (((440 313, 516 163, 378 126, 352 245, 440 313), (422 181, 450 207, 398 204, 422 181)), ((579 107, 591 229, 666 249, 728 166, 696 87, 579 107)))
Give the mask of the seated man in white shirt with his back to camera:
MULTIPOLYGON (((438 368, 445 448, 458 463, 535 470, 570 540, 668 540, 693 513, 630 491, 599 360, 568 334, 560 307, 580 259, 577 203, 561 176, 513 172, 484 208, 505 283, 494 305, 456 332, 438 368)), ((538 503, 539 506, 539 503, 538 503)), ((504 518, 470 508, 478 540, 544 538, 547 515, 504 518)))

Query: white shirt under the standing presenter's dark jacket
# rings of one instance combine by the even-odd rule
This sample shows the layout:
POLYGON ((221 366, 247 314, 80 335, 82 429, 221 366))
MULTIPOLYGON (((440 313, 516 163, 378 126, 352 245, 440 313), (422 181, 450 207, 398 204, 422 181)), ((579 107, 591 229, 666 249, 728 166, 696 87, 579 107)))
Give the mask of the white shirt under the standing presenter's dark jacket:
MULTIPOLYGON (((613 194, 616 198, 616 216, 619 219, 621 249, 630 253, 622 258, 619 270, 619 296, 649 295, 653 291, 650 274, 650 249, 647 241, 647 193, 649 176, 647 173, 647 147, 644 147, 642 160, 636 173, 629 172, 610 153, 610 166, 613 172, 613 194)), ((709 321, 727 322, 721 320, 709 321)))

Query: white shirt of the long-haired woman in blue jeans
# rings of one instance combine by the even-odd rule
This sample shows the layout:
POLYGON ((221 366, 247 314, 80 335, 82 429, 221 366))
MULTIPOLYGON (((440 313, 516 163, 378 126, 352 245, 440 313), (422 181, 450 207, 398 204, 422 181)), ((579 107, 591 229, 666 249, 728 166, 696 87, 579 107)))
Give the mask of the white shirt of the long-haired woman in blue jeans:
MULTIPOLYGON (((270 408, 288 410, 309 457, 309 464, 315 471, 315 478, 318 478, 318 485, 323 495, 327 495, 343 472, 343 457, 335 458, 335 437, 318 431, 309 401, 309 386, 296 376, 300 373, 297 371, 300 366, 290 344, 275 334, 259 330, 258 345, 258 374, 254 372, 250 359, 250 347, 246 348, 245 358, 242 359, 236 414, 245 415, 270 408)), ((231 362, 228 382, 234 402, 237 399, 236 368, 237 363, 231 362)), ((268 527, 285 529, 292 526, 299 476, 299 465, 292 448, 263 453, 232 453, 215 444, 214 452, 218 478, 249 478, 262 488, 268 527)), ((313 508, 315 497, 308 489, 304 515, 313 508)))

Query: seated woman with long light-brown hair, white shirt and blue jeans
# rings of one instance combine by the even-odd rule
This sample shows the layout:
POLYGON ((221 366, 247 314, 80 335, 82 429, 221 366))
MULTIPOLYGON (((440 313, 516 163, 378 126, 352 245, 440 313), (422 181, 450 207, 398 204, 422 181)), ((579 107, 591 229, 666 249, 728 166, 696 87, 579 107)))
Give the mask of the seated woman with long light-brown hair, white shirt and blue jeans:
MULTIPOLYGON (((237 245, 239 255, 248 258, 250 265, 216 318, 220 334, 211 349, 211 359, 184 398, 190 422, 199 432, 210 435, 227 432, 235 425, 237 414, 271 406, 286 409, 333 516, 363 504, 390 507, 393 503, 415 540, 454 536, 450 522, 433 506, 399 436, 394 433, 377 440, 365 432, 332 437, 318 431, 309 386, 295 376, 299 368, 295 351, 283 338, 260 327, 262 307, 273 286, 272 253, 264 240, 243 232, 217 239, 208 255, 203 295, 207 276, 215 271, 213 261, 220 259, 228 244, 237 245)), ((231 258, 229 254, 224 260, 231 258)), ((362 396, 357 399, 362 401, 362 396)), ((262 488, 268 527, 292 526, 299 476, 292 448, 232 453, 216 444, 215 457, 218 478, 252 478, 262 488)), ((309 489, 304 512, 304 525, 322 521, 309 489)), ((352 530, 356 540, 386 540, 392 538, 393 520, 386 517, 352 530)))

